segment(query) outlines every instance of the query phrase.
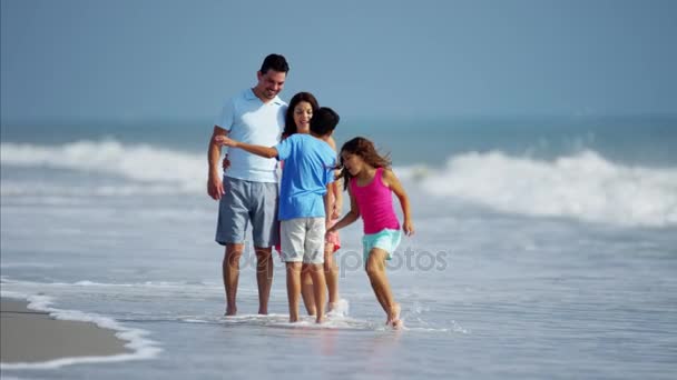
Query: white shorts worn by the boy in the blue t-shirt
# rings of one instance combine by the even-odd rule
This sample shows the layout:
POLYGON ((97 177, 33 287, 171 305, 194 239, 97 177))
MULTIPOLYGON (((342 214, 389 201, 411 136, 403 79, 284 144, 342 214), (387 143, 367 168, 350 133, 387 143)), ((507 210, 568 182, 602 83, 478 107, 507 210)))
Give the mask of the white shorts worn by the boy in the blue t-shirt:
POLYGON ((279 227, 284 262, 324 263, 325 218, 283 220, 279 227))

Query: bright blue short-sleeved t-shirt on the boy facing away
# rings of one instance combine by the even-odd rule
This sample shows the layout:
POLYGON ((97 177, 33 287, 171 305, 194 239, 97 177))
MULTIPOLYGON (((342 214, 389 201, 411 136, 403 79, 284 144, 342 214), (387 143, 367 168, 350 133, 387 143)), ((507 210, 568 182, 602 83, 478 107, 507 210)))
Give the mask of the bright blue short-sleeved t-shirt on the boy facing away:
POLYGON ((324 217, 326 186, 334 181, 336 152, 310 134, 295 133, 278 143, 284 160, 279 182, 279 220, 324 217))

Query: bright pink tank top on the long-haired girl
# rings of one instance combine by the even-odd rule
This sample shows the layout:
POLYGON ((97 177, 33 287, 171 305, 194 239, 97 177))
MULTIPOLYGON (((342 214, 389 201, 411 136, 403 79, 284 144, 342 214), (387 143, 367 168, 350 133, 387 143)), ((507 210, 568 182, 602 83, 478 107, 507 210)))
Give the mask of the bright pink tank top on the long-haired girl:
POLYGON ((360 208, 365 234, 381 232, 386 228, 400 229, 400 221, 393 208, 392 190, 383 184, 382 178, 383 168, 377 168, 374 179, 363 187, 357 186, 355 178, 351 178, 351 191, 360 208))

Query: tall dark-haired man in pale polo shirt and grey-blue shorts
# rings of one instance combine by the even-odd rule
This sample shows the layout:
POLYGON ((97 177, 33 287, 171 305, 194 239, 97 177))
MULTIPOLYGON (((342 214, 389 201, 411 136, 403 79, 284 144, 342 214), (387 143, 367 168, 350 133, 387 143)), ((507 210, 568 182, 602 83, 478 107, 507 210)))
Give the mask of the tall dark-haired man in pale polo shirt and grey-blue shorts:
POLYGON ((287 104, 277 94, 282 91, 290 67, 283 56, 269 54, 256 73, 256 87, 228 100, 214 126, 209 141, 209 177, 207 192, 219 200, 216 242, 226 246, 223 278, 226 289, 226 316, 235 316, 239 259, 244 251, 245 231, 252 223, 256 251, 258 313, 268 313, 273 281, 272 247, 277 243, 277 172, 276 160, 249 154, 241 149, 228 151, 230 167, 219 178, 220 146, 217 136, 272 147, 284 129, 287 104))

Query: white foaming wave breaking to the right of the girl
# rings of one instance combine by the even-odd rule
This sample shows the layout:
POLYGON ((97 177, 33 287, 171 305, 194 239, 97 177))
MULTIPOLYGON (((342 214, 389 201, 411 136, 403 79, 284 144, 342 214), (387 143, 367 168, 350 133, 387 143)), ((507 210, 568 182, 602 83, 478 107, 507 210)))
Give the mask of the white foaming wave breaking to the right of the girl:
POLYGON ((471 152, 450 158, 421 183, 433 194, 503 212, 621 226, 677 224, 676 169, 620 166, 590 150, 553 161, 471 152))

